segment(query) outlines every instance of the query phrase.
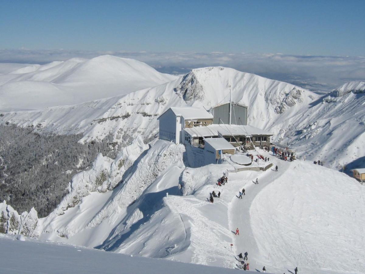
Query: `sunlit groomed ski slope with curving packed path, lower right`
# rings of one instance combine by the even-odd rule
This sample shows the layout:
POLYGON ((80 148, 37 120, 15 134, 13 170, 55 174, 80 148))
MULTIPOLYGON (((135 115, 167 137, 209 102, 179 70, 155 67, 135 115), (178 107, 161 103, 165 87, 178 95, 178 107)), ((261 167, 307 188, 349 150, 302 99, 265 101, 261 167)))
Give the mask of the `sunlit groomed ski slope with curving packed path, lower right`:
POLYGON ((274 166, 266 172, 230 174, 235 254, 248 252, 250 270, 364 273, 364 187, 310 161, 269 157, 274 166), (242 187, 246 195, 238 199, 242 187))

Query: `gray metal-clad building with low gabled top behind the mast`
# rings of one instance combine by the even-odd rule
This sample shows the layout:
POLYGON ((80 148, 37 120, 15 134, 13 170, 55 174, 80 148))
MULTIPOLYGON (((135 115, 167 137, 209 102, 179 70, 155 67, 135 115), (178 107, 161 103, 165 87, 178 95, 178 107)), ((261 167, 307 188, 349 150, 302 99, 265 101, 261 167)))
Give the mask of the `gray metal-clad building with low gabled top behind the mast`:
MULTIPOLYGON (((230 103, 223 103, 213 107, 212 114, 214 116, 213 123, 223 123, 229 125, 229 112, 230 103)), ((232 125, 247 125, 247 106, 239 103, 232 102, 231 111, 231 124, 232 125)))

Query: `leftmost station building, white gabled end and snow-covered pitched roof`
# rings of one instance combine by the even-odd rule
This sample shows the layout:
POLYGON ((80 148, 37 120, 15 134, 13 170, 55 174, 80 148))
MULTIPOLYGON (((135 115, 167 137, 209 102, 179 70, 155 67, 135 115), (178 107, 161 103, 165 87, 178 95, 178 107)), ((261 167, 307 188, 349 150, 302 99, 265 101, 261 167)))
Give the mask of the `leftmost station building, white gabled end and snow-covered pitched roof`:
POLYGON ((160 121, 159 138, 180 144, 185 142, 183 129, 211 125, 213 115, 204 107, 170 107, 157 120, 160 121))

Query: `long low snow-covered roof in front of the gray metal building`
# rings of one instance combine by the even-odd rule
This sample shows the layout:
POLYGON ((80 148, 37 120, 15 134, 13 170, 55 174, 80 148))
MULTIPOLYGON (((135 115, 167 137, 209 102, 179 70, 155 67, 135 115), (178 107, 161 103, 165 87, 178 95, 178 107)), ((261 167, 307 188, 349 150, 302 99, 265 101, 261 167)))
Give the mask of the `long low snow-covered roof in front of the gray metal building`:
POLYGON ((209 125, 200 126, 195 128, 185 128, 187 132, 192 137, 213 137, 213 136, 246 136, 251 137, 252 135, 274 135, 267 130, 255 128, 254 126, 242 126, 242 125, 209 125))

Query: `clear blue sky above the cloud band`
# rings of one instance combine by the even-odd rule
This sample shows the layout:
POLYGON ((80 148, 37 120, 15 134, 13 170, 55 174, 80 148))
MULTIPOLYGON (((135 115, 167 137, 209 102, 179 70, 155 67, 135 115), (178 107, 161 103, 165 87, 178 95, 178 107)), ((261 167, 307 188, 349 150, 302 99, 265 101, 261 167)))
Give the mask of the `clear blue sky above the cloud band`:
POLYGON ((0 49, 365 56, 365 1, 0 2, 0 49))

